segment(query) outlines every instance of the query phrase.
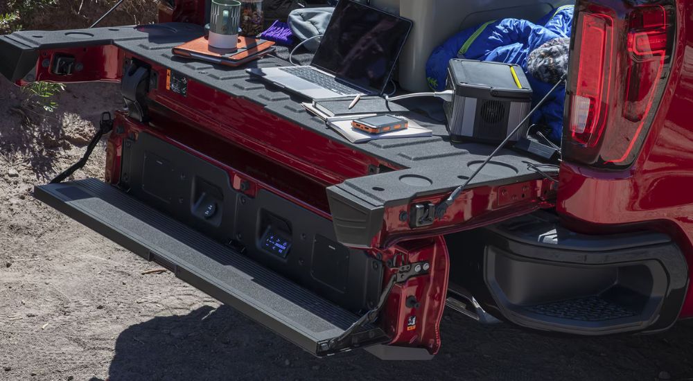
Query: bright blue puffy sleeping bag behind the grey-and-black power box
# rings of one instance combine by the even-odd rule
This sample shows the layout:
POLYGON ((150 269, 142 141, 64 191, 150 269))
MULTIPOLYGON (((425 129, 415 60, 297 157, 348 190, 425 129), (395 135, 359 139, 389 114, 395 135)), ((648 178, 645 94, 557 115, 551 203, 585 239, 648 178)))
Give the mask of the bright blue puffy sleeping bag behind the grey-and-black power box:
MULTIPOLYGON (((448 62, 453 58, 518 64, 532 86, 533 105, 543 98, 554 84, 534 78, 527 71, 527 56, 545 42, 570 37, 572 6, 562 6, 542 17, 537 24, 522 19, 489 21, 457 33, 435 48, 426 63, 428 85, 436 91, 445 89, 448 62)), ((532 115, 532 123, 550 127, 550 139, 561 141, 565 86, 560 85, 546 103, 532 115)))

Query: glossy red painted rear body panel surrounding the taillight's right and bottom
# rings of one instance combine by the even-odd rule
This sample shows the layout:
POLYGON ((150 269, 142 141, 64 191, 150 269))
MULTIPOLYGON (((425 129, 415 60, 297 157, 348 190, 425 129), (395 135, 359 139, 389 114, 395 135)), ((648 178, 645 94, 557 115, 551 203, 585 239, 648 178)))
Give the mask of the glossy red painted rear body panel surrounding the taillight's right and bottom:
MULTIPOLYGON (((676 3, 672 73, 642 149, 628 170, 561 166, 557 211, 576 231, 657 229, 685 252, 693 276, 693 2, 676 3)), ((625 83, 626 78, 617 78, 625 83)), ((608 129, 609 126, 607 125, 608 129)), ((693 317, 689 288, 681 317, 693 317)))

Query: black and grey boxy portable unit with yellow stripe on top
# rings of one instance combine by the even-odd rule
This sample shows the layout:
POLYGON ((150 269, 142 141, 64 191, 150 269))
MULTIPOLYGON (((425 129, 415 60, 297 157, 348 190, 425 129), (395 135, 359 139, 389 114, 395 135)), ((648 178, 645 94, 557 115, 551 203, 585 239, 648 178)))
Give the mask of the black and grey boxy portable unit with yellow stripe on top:
MULTIPOLYGON (((444 105, 452 141, 500 143, 527 116, 532 87, 515 64, 450 60, 448 90, 452 102, 444 105)), ((510 139, 527 133, 529 121, 510 139)))

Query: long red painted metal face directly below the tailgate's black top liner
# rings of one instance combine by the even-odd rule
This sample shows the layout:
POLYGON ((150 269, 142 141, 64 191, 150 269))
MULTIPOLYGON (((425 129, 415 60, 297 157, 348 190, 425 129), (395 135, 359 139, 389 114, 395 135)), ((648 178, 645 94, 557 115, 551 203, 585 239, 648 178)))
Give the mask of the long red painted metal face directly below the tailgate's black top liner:
MULTIPOLYGON (((159 78, 166 69, 153 66, 159 78)), ((267 112, 263 106, 234 98, 207 85, 188 82, 187 96, 166 91, 164 81, 150 91, 150 98, 171 112, 182 114, 227 141, 263 154, 315 177, 325 184, 372 173, 381 164, 397 169, 367 154, 267 112)), ((297 105, 299 107, 299 105, 297 105)))

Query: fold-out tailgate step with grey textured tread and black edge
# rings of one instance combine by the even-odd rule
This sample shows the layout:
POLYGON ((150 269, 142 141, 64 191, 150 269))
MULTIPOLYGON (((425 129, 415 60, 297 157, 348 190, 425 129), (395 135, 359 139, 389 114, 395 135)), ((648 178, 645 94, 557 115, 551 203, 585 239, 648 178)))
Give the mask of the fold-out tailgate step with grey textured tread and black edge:
MULTIPOLYGON (((327 343, 359 318, 97 179, 37 186, 35 196, 315 355, 343 349, 327 343)), ((365 331, 352 344, 387 341, 365 331)))

